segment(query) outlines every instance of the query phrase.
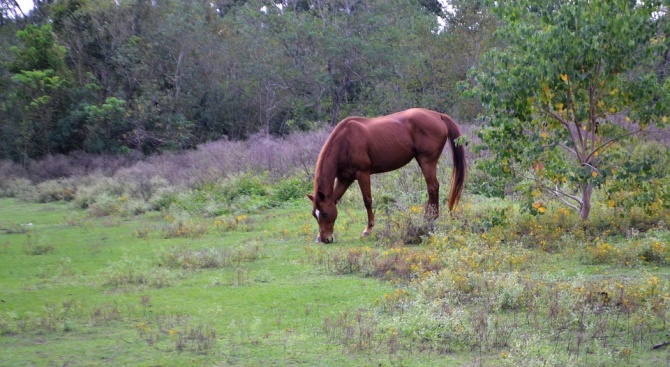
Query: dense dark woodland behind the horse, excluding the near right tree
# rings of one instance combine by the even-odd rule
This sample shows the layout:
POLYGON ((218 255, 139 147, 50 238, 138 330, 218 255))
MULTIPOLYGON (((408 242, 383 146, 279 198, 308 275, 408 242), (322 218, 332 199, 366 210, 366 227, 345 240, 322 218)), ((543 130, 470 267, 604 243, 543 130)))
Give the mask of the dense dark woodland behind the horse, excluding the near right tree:
POLYGON ((3 1, 0 42, 11 47, 0 50, 0 158, 179 150, 412 106, 472 117, 456 82, 493 23, 462 8, 58 0, 21 16, 3 1))

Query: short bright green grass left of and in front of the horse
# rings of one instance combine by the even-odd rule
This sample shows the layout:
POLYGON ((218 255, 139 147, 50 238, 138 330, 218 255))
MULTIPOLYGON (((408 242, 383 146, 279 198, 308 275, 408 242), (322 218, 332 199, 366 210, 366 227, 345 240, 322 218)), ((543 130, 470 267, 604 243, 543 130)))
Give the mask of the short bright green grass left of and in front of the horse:
POLYGON ((251 215, 245 231, 196 218, 208 228, 202 237, 167 239, 167 222, 156 213, 91 219, 67 204, 8 199, 0 208, 4 232, 24 229, 0 234, 2 366, 360 365, 367 357, 343 355, 320 331, 323 320, 372 307, 392 289, 308 263, 304 247, 313 234, 301 233, 309 210, 300 206, 251 215), (73 217, 82 219, 73 224, 73 217), (134 235, 138 228, 148 234, 134 235), (30 241, 53 250, 34 255, 26 251, 30 241), (258 255, 214 269, 166 269, 161 256, 176 246, 258 255), (130 272, 147 280, 109 281, 130 272), (184 342, 177 350, 179 336, 202 326, 215 332, 213 346, 184 342))

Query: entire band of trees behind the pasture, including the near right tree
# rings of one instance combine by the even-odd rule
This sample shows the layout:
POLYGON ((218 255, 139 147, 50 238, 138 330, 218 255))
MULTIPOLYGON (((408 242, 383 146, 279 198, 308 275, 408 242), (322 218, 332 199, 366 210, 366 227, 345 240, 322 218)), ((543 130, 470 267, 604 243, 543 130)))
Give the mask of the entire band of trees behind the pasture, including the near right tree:
POLYGON ((644 163, 667 149, 634 146, 670 116, 667 0, 35 4, 0 1, 0 159, 24 167, 421 106, 483 117, 476 193, 522 193, 533 214, 550 195, 583 219, 595 188, 670 208, 644 163))

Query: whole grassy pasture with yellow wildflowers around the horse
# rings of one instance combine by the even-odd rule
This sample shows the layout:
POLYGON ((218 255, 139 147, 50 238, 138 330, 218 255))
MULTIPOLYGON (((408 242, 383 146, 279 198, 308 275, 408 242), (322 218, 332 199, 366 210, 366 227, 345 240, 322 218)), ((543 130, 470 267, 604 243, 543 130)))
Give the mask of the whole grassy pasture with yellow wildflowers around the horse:
POLYGON ((185 186, 137 166, 3 181, 0 366, 670 363, 667 212, 622 217, 598 197, 588 222, 550 201, 531 215, 474 192, 473 169, 428 224, 410 164, 373 177, 372 236, 354 188, 326 245, 303 196, 313 163, 292 159, 290 175, 254 158, 185 186))

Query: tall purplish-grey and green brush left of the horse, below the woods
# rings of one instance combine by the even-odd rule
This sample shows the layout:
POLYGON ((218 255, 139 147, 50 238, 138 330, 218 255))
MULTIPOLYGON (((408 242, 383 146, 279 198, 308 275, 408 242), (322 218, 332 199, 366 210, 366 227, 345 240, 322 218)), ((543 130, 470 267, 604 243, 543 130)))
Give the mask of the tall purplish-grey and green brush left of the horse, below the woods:
POLYGON ((309 190, 327 136, 325 130, 281 139, 255 135, 151 157, 53 155, 25 166, 2 161, 0 196, 72 201, 93 216, 171 206, 207 215, 271 207, 309 190))

